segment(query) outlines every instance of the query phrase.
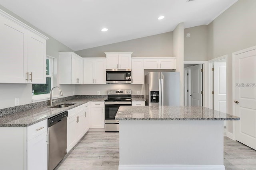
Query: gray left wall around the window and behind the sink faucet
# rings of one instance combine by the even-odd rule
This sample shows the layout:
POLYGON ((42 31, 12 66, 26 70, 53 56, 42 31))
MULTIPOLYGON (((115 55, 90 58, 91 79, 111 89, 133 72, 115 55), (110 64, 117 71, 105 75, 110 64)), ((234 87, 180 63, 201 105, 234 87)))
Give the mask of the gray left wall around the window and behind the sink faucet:
MULTIPOLYGON (((73 51, 72 49, 66 47, 50 35, 44 33, 40 29, 34 27, 27 21, 23 20, 10 10, 4 8, 0 5, 0 9, 4 12, 10 14, 11 16, 17 18, 18 20, 22 21, 23 23, 27 24, 28 26, 34 28, 35 30, 39 31, 40 33, 46 35, 49 37, 49 39, 46 41, 46 54, 50 55, 51 57, 54 57, 54 65, 56 66, 55 72, 54 72, 54 86, 59 85, 58 75, 59 72, 58 69, 58 51, 73 51)), ((72 96, 75 94, 75 86, 71 85, 61 85, 60 88, 62 88, 63 94, 65 96, 72 96)), ((56 90, 56 95, 58 95, 58 92, 56 90)), ((0 109, 6 108, 6 107, 12 107, 15 106, 15 98, 20 98, 20 105, 23 104, 29 104, 32 103, 32 84, 0 84, 0 109)))

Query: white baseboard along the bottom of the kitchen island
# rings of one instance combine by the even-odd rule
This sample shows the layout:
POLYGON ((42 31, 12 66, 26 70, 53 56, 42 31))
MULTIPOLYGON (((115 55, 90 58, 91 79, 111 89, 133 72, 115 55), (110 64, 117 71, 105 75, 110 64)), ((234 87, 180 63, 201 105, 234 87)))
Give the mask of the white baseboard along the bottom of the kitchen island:
POLYGON ((118 170, 225 170, 224 165, 119 165, 118 170))

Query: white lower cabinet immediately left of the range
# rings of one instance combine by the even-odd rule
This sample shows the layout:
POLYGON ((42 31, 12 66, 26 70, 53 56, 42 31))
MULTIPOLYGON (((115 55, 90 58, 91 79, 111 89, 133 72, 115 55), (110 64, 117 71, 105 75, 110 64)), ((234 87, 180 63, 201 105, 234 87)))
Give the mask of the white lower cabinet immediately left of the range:
POLYGON ((105 128, 104 102, 91 103, 91 128, 105 128))

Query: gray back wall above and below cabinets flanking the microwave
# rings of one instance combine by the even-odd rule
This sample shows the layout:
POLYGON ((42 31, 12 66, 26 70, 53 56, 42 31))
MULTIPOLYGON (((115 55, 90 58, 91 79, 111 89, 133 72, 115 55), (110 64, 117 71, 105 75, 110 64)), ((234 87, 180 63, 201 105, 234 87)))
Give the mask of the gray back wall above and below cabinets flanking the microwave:
MULTIPOLYGON (((104 52, 133 52, 132 57, 173 57, 172 32, 132 39, 120 43, 76 51, 81 57, 106 57, 104 52)), ((132 94, 145 94, 144 85, 140 84, 107 84, 76 85, 76 94, 107 94, 108 89, 131 89, 132 94)))

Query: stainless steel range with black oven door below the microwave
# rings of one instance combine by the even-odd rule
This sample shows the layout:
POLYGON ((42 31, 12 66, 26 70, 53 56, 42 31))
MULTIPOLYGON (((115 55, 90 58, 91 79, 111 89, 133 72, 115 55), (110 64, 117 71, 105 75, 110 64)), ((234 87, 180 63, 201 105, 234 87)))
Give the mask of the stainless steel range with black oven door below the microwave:
POLYGON ((115 120, 119 106, 132 106, 132 90, 108 90, 105 100, 105 131, 118 132, 119 121, 115 120))

